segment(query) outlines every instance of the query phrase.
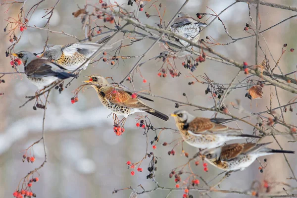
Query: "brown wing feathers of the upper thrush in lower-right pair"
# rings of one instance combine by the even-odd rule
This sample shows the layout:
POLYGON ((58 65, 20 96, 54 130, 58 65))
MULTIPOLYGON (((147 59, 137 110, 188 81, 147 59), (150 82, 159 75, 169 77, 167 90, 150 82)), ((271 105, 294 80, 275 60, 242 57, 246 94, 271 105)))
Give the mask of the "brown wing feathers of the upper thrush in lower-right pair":
POLYGON ((211 122, 209 118, 195 118, 192 122, 189 123, 188 130, 193 133, 203 133, 208 132, 217 132, 224 131, 228 129, 227 126, 222 124, 216 124, 211 122))

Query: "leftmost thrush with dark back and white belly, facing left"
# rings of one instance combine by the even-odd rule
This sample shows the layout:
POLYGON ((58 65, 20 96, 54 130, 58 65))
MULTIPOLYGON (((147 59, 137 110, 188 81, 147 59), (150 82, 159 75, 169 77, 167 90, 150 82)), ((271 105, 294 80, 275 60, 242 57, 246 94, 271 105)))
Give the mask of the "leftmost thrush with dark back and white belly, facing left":
POLYGON ((58 79, 64 80, 77 77, 75 74, 68 73, 61 65, 47 59, 38 58, 30 51, 23 50, 11 55, 22 61, 27 78, 36 85, 38 90, 44 89, 58 79))

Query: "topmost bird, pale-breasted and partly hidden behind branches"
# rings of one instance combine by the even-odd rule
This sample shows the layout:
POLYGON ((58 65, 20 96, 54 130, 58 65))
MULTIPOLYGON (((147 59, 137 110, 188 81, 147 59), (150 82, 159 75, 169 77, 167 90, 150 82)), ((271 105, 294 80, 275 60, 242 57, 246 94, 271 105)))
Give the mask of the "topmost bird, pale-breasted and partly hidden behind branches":
MULTIPOLYGON (((200 30, 203 27, 206 27, 206 23, 201 23, 200 21, 192 18, 189 14, 180 12, 171 24, 171 31, 175 34, 178 34, 186 39, 192 40, 196 43, 200 37, 200 30)), ((187 46, 189 43, 178 39, 179 43, 183 46, 187 46)))

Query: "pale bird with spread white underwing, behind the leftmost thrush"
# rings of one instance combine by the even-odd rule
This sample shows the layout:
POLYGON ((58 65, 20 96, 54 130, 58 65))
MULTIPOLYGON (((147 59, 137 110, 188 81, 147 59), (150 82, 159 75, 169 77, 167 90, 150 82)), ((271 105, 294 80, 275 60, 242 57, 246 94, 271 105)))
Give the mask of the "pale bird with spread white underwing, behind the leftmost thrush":
MULTIPOLYGON (((55 45, 45 50, 40 57, 47 58, 55 62, 67 70, 76 70, 80 67, 91 55, 93 55, 110 36, 100 39, 97 43, 78 42, 67 45, 55 45)), ((102 51, 110 49, 111 46, 104 46, 102 51)), ((100 52, 98 52, 100 53, 100 52)), ((84 64, 82 69, 86 69, 90 60, 84 64)))

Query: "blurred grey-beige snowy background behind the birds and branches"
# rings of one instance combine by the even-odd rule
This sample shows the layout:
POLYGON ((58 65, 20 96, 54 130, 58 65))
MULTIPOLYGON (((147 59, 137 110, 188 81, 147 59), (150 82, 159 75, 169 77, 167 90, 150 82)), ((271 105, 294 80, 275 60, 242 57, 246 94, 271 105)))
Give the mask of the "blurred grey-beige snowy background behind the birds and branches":
MULTIPOLYGON (((297 1, 295 0, 267 1, 297 7, 297 1)), ((1 0, 1 2, 7 1, 1 0)), ((38 0, 28 0, 24 7, 25 12, 27 12, 36 2, 38 2, 38 0)), ((55 2, 56 1, 53 0, 43 2, 34 13, 29 25, 44 27, 46 19, 42 19, 41 17, 45 15, 45 9, 53 6, 55 2)), ((127 3, 127 0, 117 0, 117 2, 122 4, 127 3)), ((234 0, 190 0, 183 11, 196 18, 195 15, 197 12, 212 13, 206 6, 213 9, 216 13, 219 13, 233 2, 234 0)), ((84 39, 85 32, 81 29, 81 20, 79 17, 74 18, 72 12, 76 11, 78 6, 82 8, 85 3, 85 0, 61 0, 54 9, 53 16, 49 23, 50 30, 59 32, 64 31, 76 35, 79 39, 84 39)), ((88 3, 99 3, 99 0, 88 0, 88 3)), ((144 11, 148 11, 151 15, 156 15, 157 12, 155 8, 148 8, 151 3, 152 2, 145 2, 147 5, 145 6, 144 11)), ((159 3, 166 6, 164 21, 167 24, 172 16, 178 11, 178 8, 183 4, 183 1, 159 0, 156 5, 159 3)), ((3 30, 7 24, 5 19, 8 17, 18 17, 17 15, 20 11, 20 7, 21 4, 19 3, 0 6, 1 30, 3 30)), ((131 11, 136 9, 136 5, 133 7, 126 7, 131 11)), ((254 17, 255 5, 251 5, 251 10, 252 16, 254 17)), ((157 17, 150 17, 148 19, 145 16, 144 11, 139 13, 139 19, 143 23, 156 25, 159 19, 157 17)), ((261 30, 264 30, 294 14, 296 13, 293 11, 261 5, 261 30)), ((234 38, 249 36, 249 34, 243 30, 246 23, 249 22, 247 3, 237 3, 224 12, 220 18, 223 20, 229 33, 234 38)), ((201 21, 204 22, 206 19, 207 17, 204 17, 201 21)), ((103 25, 102 20, 96 22, 99 25, 103 25)), ((206 21, 206 23, 209 22, 210 20, 206 21)), ((112 25, 109 26, 112 27, 112 25)), ((263 33, 268 47, 275 59, 280 57, 281 48, 285 43, 288 44, 287 49, 297 49, 295 39, 296 31, 297 21, 293 18, 263 33)), ((20 34, 18 31, 16 31, 16 33, 20 34)), ((231 41, 226 35, 219 20, 215 20, 209 27, 203 30, 200 38, 205 39, 206 36, 211 36, 221 44, 231 41)), ((5 58, 5 50, 10 46, 9 37, 3 31, 0 31, 0 38, 2 41, 2 44, 0 45, 0 61, 2 63, 0 72, 13 72, 13 69, 9 64, 10 58, 5 58)), ((117 39, 121 38, 122 35, 117 37, 117 39)), ((25 49, 32 52, 40 52, 43 50, 46 39, 47 31, 28 28, 24 31, 22 39, 19 44, 17 44, 15 51, 25 49)), ((94 41, 96 41, 96 39, 94 41)), ((76 42, 76 40, 62 34, 49 34, 49 44, 63 45, 72 42, 76 42)), ((125 42, 126 44, 129 44, 129 41, 126 40, 125 42)), ((148 39, 137 42, 131 47, 122 49, 121 55, 141 55, 149 48, 152 42, 153 41, 148 39)), ((261 36, 260 42, 263 50, 267 53, 270 63, 272 63, 273 61, 269 56, 268 48, 261 36)), ((248 64, 254 64, 254 45, 254 38, 249 38, 227 46, 218 45, 213 47, 213 49, 236 61, 247 61, 248 64)), ((148 60, 150 57, 158 55, 161 51, 161 45, 156 45, 144 60, 148 60)), ((279 65, 284 73, 296 70, 297 56, 295 53, 296 52, 285 53, 283 55, 279 65)), ((264 55, 260 50, 259 56, 259 61, 261 61, 264 55)), ((146 136, 144 135, 144 131, 137 128, 135 125, 137 114, 129 116, 125 124, 126 131, 122 136, 118 137, 112 129, 112 118, 107 118, 110 112, 102 107, 94 89, 86 89, 85 92, 80 93, 79 102, 75 104, 71 104, 70 102, 70 98, 73 97, 73 91, 81 85, 81 81, 84 80, 84 75, 97 73, 105 77, 113 77, 115 81, 119 82, 126 76, 137 60, 138 58, 126 59, 125 61, 120 60, 120 64, 116 66, 111 66, 108 63, 99 61, 90 65, 87 70, 84 70, 81 76, 77 80, 74 80, 71 86, 65 89, 62 94, 59 94, 56 90, 53 90, 50 93, 50 104, 48 105, 45 121, 48 162, 45 167, 39 171, 40 181, 34 183, 32 187, 32 190, 36 193, 37 197, 128 198, 131 193, 129 190, 119 191, 114 195, 111 193, 114 189, 121 189, 129 186, 137 189, 137 186, 140 184, 146 190, 154 188, 154 182, 146 179, 146 176, 148 175, 147 167, 150 159, 145 160, 142 164, 144 172, 139 173, 135 170, 136 174, 134 176, 130 175, 131 170, 127 169, 126 165, 128 160, 131 162, 141 160, 146 152, 146 136)), ((182 73, 178 78, 172 78, 170 75, 166 78, 159 78, 157 76, 158 69, 163 63, 159 60, 161 59, 149 61, 140 69, 143 77, 150 83, 152 94, 186 102, 186 98, 182 95, 185 93, 191 103, 205 107, 213 106, 213 99, 210 98, 209 94, 205 95, 207 85, 198 83, 192 86, 188 85, 188 82, 192 81, 192 79, 189 80, 189 78, 186 78, 185 76, 189 75, 189 70, 184 69, 181 65, 184 59, 176 60, 178 69, 182 73)), ((23 66, 19 66, 19 70, 23 71, 23 66)), ((194 75, 203 75, 206 73, 207 76, 210 79, 215 80, 216 83, 230 83, 237 72, 238 69, 235 67, 206 60, 199 64, 194 75)), ((277 69, 275 72, 279 73, 277 69)), ((242 73, 238 80, 243 80, 245 77, 246 76, 242 73)), ((291 77, 294 78, 292 75, 291 77)), ((28 148, 42 136, 43 110, 33 110, 33 101, 29 102, 24 107, 19 108, 19 106, 26 101, 25 96, 32 96, 36 91, 36 87, 26 79, 26 76, 15 74, 5 75, 2 79, 5 80, 5 83, 0 85, 0 93, 4 93, 3 96, 0 96, 0 198, 6 198, 12 197, 12 193, 16 190, 19 180, 21 180, 21 178, 23 178, 29 171, 38 167, 44 160, 43 145, 40 143, 34 146, 36 161, 33 164, 22 162, 22 155, 24 154, 22 150, 28 148)), ((148 90, 148 83, 144 84, 142 81, 143 79, 136 74, 134 77, 136 90, 148 90)), ((129 82, 125 81, 124 84, 132 89, 129 82)), ((232 108, 230 102, 236 103, 236 99, 240 99, 242 107, 250 112, 267 110, 266 107, 269 108, 271 90, 274 92, 273 87, 264 87, 263 99, 250 101, 245 98, 247 91, 245 89, 238 89, 231 93, 225 100, 225 104, 229 104, 229 110, 232 114, 244 117, 249 114, 239 112, 232 108)), ((294 97, 293 94, 280 89, 278 89, 278 94, 280 96, 281 104, 287 104, 289 100, 294 97)), ((44 97, 41 98, 45 100, 44 97)), ((176 110, 174 102, 158 98, 152 99, 154 102, 147 103, 151 107, 154 107, 167 115, 176 110)), ((272 105, 273 107, 278 106, 277 99, 274 96, 272 105)), ((208 111, 193 111, 195 108, 190 106, 182 106, 180 108, 187 109, 196 116, 210 117, 214 115, 213 112, 208 111)), ((296 111, 295 108, 294 111, 296 111)), ((278 111, 278 113, 280 113, 280 111, 278 111)), ((149 116, 149 118, 155 128, 176 128, 172 118, 170 118, 168 122, 164 122, 152 116, 149 116)), ((296 118, 297 116, 295 112, 285 113, 285 120, 287 123, 297 124, 296 118)), ((254 124, 256 123, 255 118, 250 119, 250 121, 254 124)), ((240 128, 244 129, 245 133, 252 133, 251 126, 241 122, 237 122, 237 124, 240 128)), ((229 126, 236 127, 236 123, 230 123, 229 126)), ((149 141, 151 141, 155 135, 150 131, 148 136, 149 141)), ((156 180, 160 186, 174 188, 174 179, 169 179, 168 177, 171 169, 185 164, 188 161, 188 159, 182 155, 181 146, 175 148, 176 154, 174 156, 169 156, 167 152, 172 149, 173 145, 167 147, 161 145, 163 142, 169 143, 179 137, 179 134, 170 130, 165 130, 160 135, 160 141, 156 145, 157 149, 153 151, 151 146, 148 147, 148 151, 153 151, 155 155, 159 157, 156 180)), ((277 136, 277 140, 284 149, 296 150, 296 144, 287 143, 289 139, 290 137, 277 136)), ((270 147, 279 148, 272 137, 266 137, 262 142, 273 142, 270 147)), ((189 152, 190 157, 197 152, 196 148, 190 147, 187 144, 184 144, 184 149, 189 152)), ((293 170, 297 171, 297 162, 295 160, 296 155, 287 155, 287 157, 293 170)), ((264 157, 261 157, 259 160, 263 162, 263 159, 264 157)), ((267 156, 267 159, 267 167, 262 174, 258 170, 259 163, 255 161, 246 170, 233 173, 229 178, 224 180, 220 185, 220 189, 245 191, 250 188, 250 185, 254 180, 263 181, 264 179, 285 182, 296 186, 294 180, 286 179, 293 177, 293 175, 291 174, 282 154, 270 155, 267 156)), ((208 166, 209 171, 207 173, 203 171, 202 165, 195 167, 193 164, 192 167, 193 171, 199 176, 202 176, 206 181, 211 180, 221 172, 211 165, 208 166)), ((210 185, 215 184, 220 178, 221 176, 210 183, 210 185)), ((200 184, 200 186, 203 187, 202 182, 200 182, 200 184)), ((138 190, 142 191, 141 189, 138 190)), ((277 190, 282 190, 282 186, 273 188, 271 192, 277 190)), ((168 192, 168 190, 157 190, 140 195, 139 198, 165 198, 168 192)), ((181 198, 182 194, 182 191, 175 191, 171 193, 169 197, 181 198)), ((198 197, 199 192, 192 192, 191 194, 194 195, 194 197, 198 197)), ((209 196, 215 198, 248 197, 239 194, 222 193, 210 193, 209 196)))

